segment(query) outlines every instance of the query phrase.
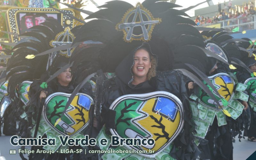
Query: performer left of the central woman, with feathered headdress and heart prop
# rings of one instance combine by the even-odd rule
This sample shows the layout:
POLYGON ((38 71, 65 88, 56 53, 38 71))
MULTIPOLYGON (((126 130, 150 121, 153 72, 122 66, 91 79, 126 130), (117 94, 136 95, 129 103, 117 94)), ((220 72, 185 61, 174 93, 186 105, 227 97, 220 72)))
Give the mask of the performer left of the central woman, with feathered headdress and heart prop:
MULTIPOLYGON (((47 102, 44 104, 44 98, 46 98, 46 100, 48 100, 50 103, 52 99, 53 99, 52 101, 57 100, 57 101, 60 101, 61 103, 63 102, 63 100, 61 99, 64 99, 64 102, 61 105, 63 106, 64 103, 67 102, 67 101, 65 102, 65 100, 67 100, 67 97, 70 96, 70 93, 72 93, 74 90, 73 85, 69 84, 69 82, 71 81, 70 73, 67 73, 67 75, 64 75, 65 73, 62 73, 61 71, 63 70, 63 66, 65 67, 66 65, 69 65, 69 58, 71 56, 71 53, 73 52, 73 50, 70 48, 62 49, 62 45, 72 43, 72 41, 74 40, 73 33, 70 31, 70 28, 63 29, 63 27, 56 20, 48 19, 45 22, 41 23, 40 25, 30 28, 28 32, 22 34, 21 36, 26 36, 26 37, 23 38, 13 48, 13 51, 14 51, 13 56, 10 59, 10 63, 8 63, 8 66, 7 66, 7 71, 8 71, 7 77, 10 77, 10 85, 8 85, 9 87, 8 91, 10 92, 10 94, 15 95, 14 93, 15 88, 17 87, 18 84, 21 83, 18 86, 17 95, 19 96, 20 100, 23 100, 22 98, 27 99, 26 103, 24 103, 26 105, 25 112, 23 110, 24 113, 21 115, 22 119, 24 119, 25 122, 20 123, 21 125, 20 134, 22 137, 25 137, 25 138, 29 138, 31 134, 32 134, 31 135, 32 137, 34 137, 34 134, 37 134, 36 137, 47 136, 48 138, 51 136, 58 137, 58 135, 61 135, 61 134, 68 134, 66 131, 64 131, 60 127, 57 126, 56 128, 54 126, 55 122, 53 123, 48 119, 49 117, 47 117, 47 115, 52 115, 53 114, 52 112, 54 112, 54 110, 51 110, 51 108, 56 107, 57 104, 48 105, 47 102), (55 47, 59 46, 60 51, 50 52, 49 55, 43 54, 39 56, 39 53, 48 51, 54 46, 55 47), (36 80, 36 79, 40 79, 40 80, 36 80), (30 84, 25 85, 24 82, 27 82, 26 80, 33 81, 33 83, 31 82, 32 83, 32 84, 30 83, 31 85, 30 84), (45 93, 48 93, 47 97, 45 93), (47 109, 44 109, 45 111, 47 111, 47 113, 43 112, 45 117, 38 119, 38 117, 41 117, 41 113, 39 115, 38 113, 39 113, 39 110, 42 111, 43 105, 45 106, 45 108, 47 108, 47 109), (36 128, 40 128, 40 130, 37 130, 36 128), (37 130, 38 132, 35 133, 35 130, 37 130)), ((65 69, 68 72, 70 71, 70 68, 69 69, 64 68, 64 70, 65 69)), ((84 90, 85 89, 82 88, 81 92, 84 92, 84 90)), ((86 92, 87 91, 88 90, 86 90, 86 92)), ((90 103, 87 103, 88 101, 91 101, 93 103, 92 98, 90 98, 90 96, 88 96, 87 94, 79 93, 77 96, 84 97, 84 98, 82 102, 79 101, 79 104, 81 103, 80 108, 79 106, 75 105, 75 102, 71 104, 73 108, 77 107, 76 109, 77 113, 74 113, 75 119, 78 120, 78 119, 81 119, 82 115, 84 116, 82 117, 81 122, 79 124, 77 123, 80 128, 77 129, 76 127, 77 131, 75 131, 74 133, 79 133, 88 125, 88 116, 86 118, 86 114, 88 115, 90 106, 84 106, 84 108, 81 108, 81 105, 82 107, 84 103, 90 105, 90 103), (81 116, 79 116, 80 114, 81 116)), ((23 105, 21 106, 19 105, 17 106, 17 108, 18 109, 22 108, 23 105)), ((65 105, 63 107, 63 110, 64 108, 65 108, 65 105)), ((62 112, 58 113, 57 116, 50 117, 50 118, 58 119, 61 113, 62 112)), ((71 116, 74 116, 74 115, 71 115, 71 116)), ((59 123, 69 123, 69 122, 65 122, 64 120, 62 120, 59 123)), ((71 130, 69 132, 71 132, 71 130)), ((80 136, 82 135, 80 134, 80 136)), ((50 149, 57 150, 60 147, 60 141, 57 143, 58 143, 57 146, 53 146, 54 148, 50 148, 50 149)), ((46 148, 47 147, 49 146, 46 146, 46 148)), ((68 148, 68 146, 66 146, 66 148, 68 148)), ((51 157, 47 154, 46 155, 34 154, 30 158, 41 159, 41 158, 44 158, 44 156, 48 157, 49 159, 52 159, 52 158, 56 158, 56 156, 61 157, 61 156, 70 156, 70 155, 60 155, 60 154, 54 155, 53 154, 51 155, 53 157, 51 157)), ((21 157, 24 158, 22 154, 21 154, 21 157)))

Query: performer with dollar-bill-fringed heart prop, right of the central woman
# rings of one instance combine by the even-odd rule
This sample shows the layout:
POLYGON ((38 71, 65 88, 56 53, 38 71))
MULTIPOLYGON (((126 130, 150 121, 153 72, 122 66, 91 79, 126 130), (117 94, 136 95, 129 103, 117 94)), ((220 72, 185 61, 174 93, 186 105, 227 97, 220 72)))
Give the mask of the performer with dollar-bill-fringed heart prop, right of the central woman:
MULTIPOLYGON (((231 36, 225 33, 226 32, 223 32, 223 31, 222 32, 210 31, 210 32, 203 32, 202 34, 206 38, 205 40, 206 48, 220 55, 220 57, 222 57, 223 60, 231 63, 229 54, 227 53, 228 51, 226 52, 226 50, 223 49, 223 47, 221 47, 218 44, 218 43, 223 44, 221 42, 225 42, 228 39, 232 39, 231 36)), ((228 41, 226 42, 228 43, 228 41)), ((230 40, 229 42, 234 42, 234 41, 230 40)), ((234 62, 232 61, 232 63, 234 62)), ((208 131, 208 127, 206 127, 204 135, 197 135, 200 138, 205 137, 205 139, 208 140, 207 145, 204 145, 204 144, 201 145, 201 150, 203 153, 200 155, 200 158, 232 159, 233 157, 232 136, 236 136, 238 134, 238 131, 243 129, 243 127, 241 129, 241 126, 240 128, 237 128, 237 127, 234 128, 233 127, 234 125, 232 124, 235 124, 235 123, 232 122, 232 119, 237 119, 242 114, 244 106, 246 107, 246 101, 248 96, 242 92, 246 89, 246 86, 244 86, 241 83, 237 84, 236 76, 234 76, 234 74, 231 73, 230 68, 227 64, 219 63, 218 69, 216 69, 213 74, 214 75, 210 76, 209 78, 212 79, 212 83, 215 85, 215 87, 220 86, 220 87, 216 87, 218 89, 219 94, 222 97, 222 99, 219 100, 220 105, 212 103, 211 102, 212 100, 206 98, 203 92, 199 93, 198 95, 196 95, 195 93, 190 96, 191 99, 200 100, 199 102, 201 102, 200 105, 199 104, 196 105, 196 103, 191 103, 193 106, 197 106, 198 108, 199 120, 204 121, 205 123, 208 122, 207 126, 210 125, 209 131, 208 131), (220 78, 220 80, 217 80, 218 78, 220 78), (221 79, 223 79, 222 82, 221 82, 221 79), (221 83, 224 83, 224 84, 221 84, 221 83), (235 84, 237 84, 236 88, 234 87, 235 84), (241 101, 242 104, 237 99, 242 100, 241 101), (236 134, 233 134, 233 133, 236 133, 236 134), (208 146, 209 148, 207 148, 206 146, 208 146)))

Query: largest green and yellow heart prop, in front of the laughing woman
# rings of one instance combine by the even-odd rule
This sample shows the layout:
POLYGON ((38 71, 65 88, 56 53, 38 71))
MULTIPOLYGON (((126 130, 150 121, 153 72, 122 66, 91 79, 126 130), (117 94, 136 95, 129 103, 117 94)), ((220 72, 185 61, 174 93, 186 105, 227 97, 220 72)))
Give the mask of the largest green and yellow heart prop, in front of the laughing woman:
POLYGON ((112 135, 120 138, 155 140, 153 146, 125 146, 135 150, 155 150, 154 153, 141 153, 141 156, 154 158, 177 137, 183 127, 181 101, 172 93, 158 91, 146 94, 129 94, 116 99, 110 106, 116 111, 115 129, 112 135))

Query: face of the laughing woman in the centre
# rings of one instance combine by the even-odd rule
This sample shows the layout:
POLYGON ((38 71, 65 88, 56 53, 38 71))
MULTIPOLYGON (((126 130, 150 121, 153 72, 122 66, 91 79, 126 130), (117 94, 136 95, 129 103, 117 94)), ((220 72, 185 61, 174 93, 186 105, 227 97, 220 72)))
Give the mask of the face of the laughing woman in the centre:
POLYGON ((137 50, 134 54, 132 67, 134 78, 147 78, 149 68, 151 68, 149 53, 144 49, 137 50))

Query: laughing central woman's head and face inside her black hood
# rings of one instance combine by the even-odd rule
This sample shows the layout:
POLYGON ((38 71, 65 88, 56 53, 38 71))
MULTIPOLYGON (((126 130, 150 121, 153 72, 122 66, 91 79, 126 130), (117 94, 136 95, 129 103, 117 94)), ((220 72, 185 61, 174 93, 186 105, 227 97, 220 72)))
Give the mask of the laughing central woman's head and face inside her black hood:
POLYGON ((143 43, 133 49, 119 64, 116 75, 130 88, 135 89, 147 84, 152 77, 156 76, 156 66, 156 55, 151 52, 148 43, 143 43))

